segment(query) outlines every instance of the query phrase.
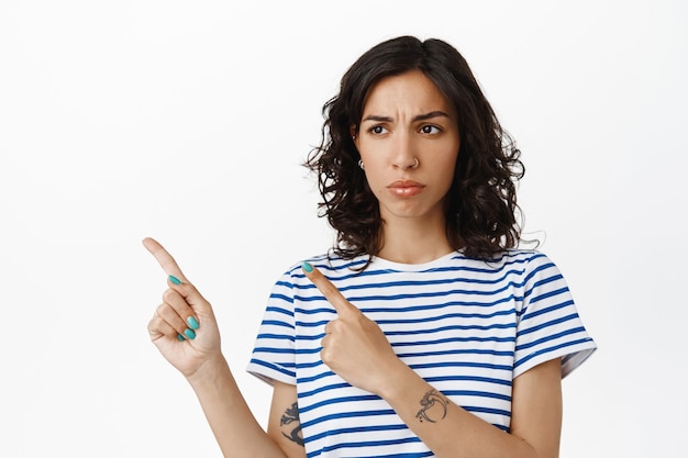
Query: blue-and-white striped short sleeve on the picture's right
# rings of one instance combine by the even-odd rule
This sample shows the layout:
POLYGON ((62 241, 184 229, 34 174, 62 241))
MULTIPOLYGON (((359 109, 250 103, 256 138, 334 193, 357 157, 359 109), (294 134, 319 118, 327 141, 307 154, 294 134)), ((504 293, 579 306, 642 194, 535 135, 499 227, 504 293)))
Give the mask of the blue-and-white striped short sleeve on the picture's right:
POLYGON ((523 303, 518 317, 513 377, 554 358, 562 358, 562 378, 597 348, 588 335, 566 280, 543 254, 528 262, 523 303))

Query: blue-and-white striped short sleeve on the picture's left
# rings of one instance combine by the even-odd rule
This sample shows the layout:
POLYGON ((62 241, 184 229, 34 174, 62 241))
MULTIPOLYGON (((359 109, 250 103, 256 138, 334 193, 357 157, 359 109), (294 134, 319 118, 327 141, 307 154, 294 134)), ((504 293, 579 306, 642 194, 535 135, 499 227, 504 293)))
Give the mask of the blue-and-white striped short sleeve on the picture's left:
POLYGON ((293 286, 289 272, 275 283, 246 370, 268 383, 296 384, 293 286))

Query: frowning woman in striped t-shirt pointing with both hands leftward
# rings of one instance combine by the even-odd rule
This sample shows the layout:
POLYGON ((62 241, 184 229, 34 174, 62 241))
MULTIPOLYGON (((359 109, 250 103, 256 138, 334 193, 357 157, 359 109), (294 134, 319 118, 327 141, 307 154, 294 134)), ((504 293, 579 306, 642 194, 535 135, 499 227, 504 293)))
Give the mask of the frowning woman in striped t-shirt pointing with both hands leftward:
POLYGON ((556 457, 561 379, 595 343, 543 254, 515 249, 519 150, 460 54, 399 37, 325 104, 307 166, 337 232, 275 284, 248 365, 274 386, 265 433, 210 304, 170 275, 148 325, 229 456, 556 457))

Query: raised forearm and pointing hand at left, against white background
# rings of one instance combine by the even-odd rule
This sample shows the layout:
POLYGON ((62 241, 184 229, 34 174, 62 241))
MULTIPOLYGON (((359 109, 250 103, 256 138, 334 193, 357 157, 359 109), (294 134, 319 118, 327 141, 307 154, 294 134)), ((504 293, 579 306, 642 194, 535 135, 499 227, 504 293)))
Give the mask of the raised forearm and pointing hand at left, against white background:
POLYGON ((163 303, 148 323, 151 340, 191 384, 223 455, 286 457, 256 422, 236 386, 221 351, 220 332, 210 303, 162 245, 152 238, 143 243, 170 276, 163 303))

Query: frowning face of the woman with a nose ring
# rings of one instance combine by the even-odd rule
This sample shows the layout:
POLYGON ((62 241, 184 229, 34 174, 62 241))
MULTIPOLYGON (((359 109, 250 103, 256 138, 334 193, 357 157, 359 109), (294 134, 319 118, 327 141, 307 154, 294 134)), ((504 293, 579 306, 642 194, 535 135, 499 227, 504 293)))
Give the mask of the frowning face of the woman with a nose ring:
POLYGON ((381 79, 370 90, 355 138, 386 223, 444 222, 460 145, 454 105, 422 71, 381 79))

